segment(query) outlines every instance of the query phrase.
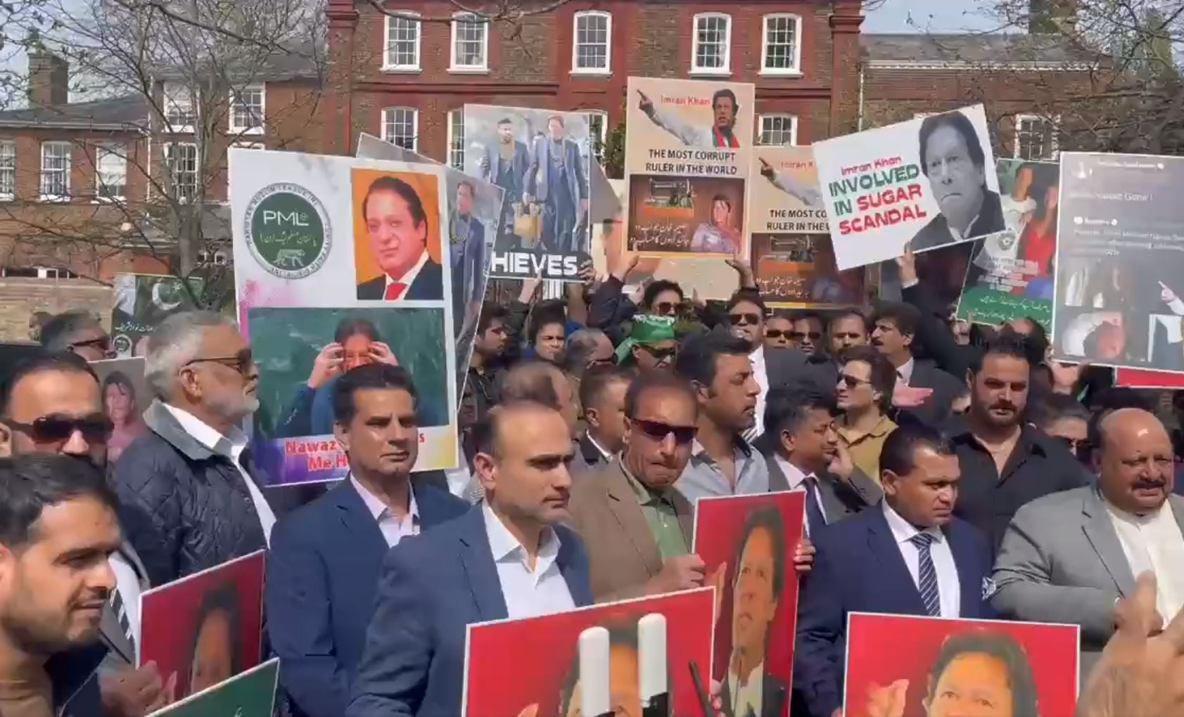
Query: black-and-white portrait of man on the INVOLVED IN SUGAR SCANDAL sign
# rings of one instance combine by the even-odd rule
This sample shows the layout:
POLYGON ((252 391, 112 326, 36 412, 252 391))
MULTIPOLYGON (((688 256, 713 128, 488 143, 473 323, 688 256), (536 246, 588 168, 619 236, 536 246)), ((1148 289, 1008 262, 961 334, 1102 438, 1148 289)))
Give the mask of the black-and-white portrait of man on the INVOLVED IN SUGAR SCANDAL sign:
POLYGON ((959 111, 926 117, 920 144, 921 172, 941 213, 913 237, 913 251, 1002 232, 999 194, 986 187, 993 168, 970 117, 959 111))

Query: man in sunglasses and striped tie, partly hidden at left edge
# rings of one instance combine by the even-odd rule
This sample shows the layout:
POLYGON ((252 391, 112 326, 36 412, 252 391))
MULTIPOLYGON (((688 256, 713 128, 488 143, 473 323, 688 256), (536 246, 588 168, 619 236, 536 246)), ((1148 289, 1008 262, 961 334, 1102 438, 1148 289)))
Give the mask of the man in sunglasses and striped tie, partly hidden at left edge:
MULTIPOLYGON (((110 434, 98 377, 76 354, 27 361, 0 389, 0 456, 63 454, 103 470, 110 434)), ((99 624, 109 648, 99 689, 107 717, 142 717, 172 700, 175 683, 163 684, 155 664, 135 666, 140 594, 152 587, 140 556, 123 540, 109 562, 116 584, 99 624)))

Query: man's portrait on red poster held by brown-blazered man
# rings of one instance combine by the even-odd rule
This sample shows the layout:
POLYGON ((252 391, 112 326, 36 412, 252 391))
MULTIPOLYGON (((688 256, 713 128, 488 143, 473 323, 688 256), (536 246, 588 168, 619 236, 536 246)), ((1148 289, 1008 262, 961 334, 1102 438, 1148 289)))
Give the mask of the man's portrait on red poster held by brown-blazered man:
POLYGON ((785 523, 776 508, 752 512, 733 564, 732 654, 720 697, 732 717, 781 717, 785 683, 765 671, 770 632, 785 587, 785 523))

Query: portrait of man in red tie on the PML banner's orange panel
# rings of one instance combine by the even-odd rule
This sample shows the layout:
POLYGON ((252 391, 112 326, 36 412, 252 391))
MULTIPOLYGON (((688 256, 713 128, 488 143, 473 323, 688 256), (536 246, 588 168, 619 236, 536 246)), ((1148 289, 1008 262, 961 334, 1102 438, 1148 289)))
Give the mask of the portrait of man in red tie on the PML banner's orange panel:
MULTIPOLYGON (((382 276, 359 284, 358 298, 442 301, 444 272, 427 253, 427 213, 416 189, 401 179, 380 176, 366 192, 361 212, 366 246, 382 276)), ((358 238, 354 243, 361 244, 358 238)))

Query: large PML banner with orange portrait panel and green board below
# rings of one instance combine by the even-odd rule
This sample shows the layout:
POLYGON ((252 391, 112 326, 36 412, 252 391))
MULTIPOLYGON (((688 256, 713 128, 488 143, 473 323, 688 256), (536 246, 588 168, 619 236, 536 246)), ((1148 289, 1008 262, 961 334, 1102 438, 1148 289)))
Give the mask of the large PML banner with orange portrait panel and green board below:
POLYGON ((453 467, 444 168, 232 149, 230 177, 239 325, 259 366, 253 438, 264 482, 345 478, 333 388, 374 362, 401 366, 414 381, 414 470, 453 467))

